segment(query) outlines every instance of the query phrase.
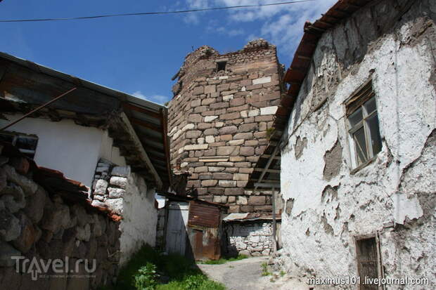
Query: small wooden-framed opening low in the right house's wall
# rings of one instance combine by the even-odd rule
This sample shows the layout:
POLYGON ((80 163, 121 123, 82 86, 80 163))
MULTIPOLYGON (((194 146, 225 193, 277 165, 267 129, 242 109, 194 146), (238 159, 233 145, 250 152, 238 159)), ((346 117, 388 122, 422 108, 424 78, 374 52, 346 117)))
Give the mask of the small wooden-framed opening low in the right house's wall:
POLYGON ((374 279, 383 278, 378 235, 356 237, 356 258, 359 290, 379 290, 377 284, 372 284, 374 279))

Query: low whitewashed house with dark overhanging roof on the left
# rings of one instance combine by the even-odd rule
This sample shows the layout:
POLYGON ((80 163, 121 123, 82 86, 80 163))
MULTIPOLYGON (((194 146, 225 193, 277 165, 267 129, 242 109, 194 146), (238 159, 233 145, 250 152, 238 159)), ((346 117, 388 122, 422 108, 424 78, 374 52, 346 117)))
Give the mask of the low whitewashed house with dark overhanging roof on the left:
POLYGON ((1 140, 120 216, 121 263, 154 246, 155 189, 169 183, 165 107, 0 53, 0 118, 1 140))

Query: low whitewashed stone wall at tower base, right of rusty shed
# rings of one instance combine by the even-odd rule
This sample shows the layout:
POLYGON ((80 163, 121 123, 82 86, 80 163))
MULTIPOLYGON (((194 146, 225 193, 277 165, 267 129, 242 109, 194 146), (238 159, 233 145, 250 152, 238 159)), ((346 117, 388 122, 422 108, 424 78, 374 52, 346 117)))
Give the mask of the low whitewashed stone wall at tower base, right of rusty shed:
POLYGON ((274 251, 273 225, 271 221, 257 223, 225 223, 230 254, 268 256, 274 251))

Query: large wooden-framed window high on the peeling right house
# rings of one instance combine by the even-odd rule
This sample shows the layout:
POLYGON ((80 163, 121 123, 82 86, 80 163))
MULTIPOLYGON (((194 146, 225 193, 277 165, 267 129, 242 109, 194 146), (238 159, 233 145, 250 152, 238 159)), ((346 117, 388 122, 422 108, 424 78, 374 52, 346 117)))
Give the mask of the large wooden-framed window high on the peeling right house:
POLYGON ((361 86, 345 106, 352 168, 356 169, 373 159, 382 147, 372 80, 361 86))

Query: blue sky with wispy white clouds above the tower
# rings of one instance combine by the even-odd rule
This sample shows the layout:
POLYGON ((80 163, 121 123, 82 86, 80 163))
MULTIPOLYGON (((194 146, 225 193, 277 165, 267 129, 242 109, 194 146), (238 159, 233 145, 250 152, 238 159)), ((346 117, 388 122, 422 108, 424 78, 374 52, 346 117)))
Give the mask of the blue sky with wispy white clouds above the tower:
MULTIPOLYGON (((4 0, 0 2, 0 19, 174 11, 280 1, 4 0)), ((178 15, 0 23, 0 51, 155 103, 165 103, 172 97, 171 77, 192 48, 207 44, 226 53, 262 37, 278 47, 279 60, 288 67, 304 22, 319 18, 335 2, 315 0, 178 15)))

